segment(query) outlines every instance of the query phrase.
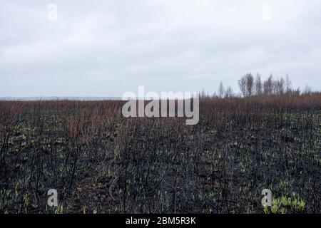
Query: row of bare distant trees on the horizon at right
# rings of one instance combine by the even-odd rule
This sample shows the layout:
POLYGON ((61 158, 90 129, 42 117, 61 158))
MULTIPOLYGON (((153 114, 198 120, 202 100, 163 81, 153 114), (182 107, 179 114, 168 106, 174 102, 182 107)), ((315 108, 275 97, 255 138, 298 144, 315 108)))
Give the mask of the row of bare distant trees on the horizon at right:
MULTIPOLYGON (((249 97, 253 95, 306 95, 312 93, 312 90, 309 86, 305 86, 304 90, 300 88, 293 89, 292 82, 290 81, 289 76, 285 78, 274 79, 272 75, 267 78, 265 81, 261 79, 260 74, 257 74, 255 77, 252 73, 247 73, 245 76, 238 80, 238 86, 240 88, 240 95, 243 97, 249 97)), ((205 93, 202 92, 201 96, 204 96, 205 93)), ((216 94, 214 96, 217 96, 216 94)), ((218 97, 220 98, 231 98, 236 95, 233 93, 233 89, 228 86, 225 88, 223 82, 220 82, 218 88, 218 97)))

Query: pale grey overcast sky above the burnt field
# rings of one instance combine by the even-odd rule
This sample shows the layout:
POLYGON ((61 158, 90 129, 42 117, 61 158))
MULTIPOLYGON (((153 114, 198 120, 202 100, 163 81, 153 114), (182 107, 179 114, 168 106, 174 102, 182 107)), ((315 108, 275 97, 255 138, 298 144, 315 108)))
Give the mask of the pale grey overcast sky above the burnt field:
POLYGON ((0 0, 0 96, 238 92, 250 72, 321 90, 320 12, 320 0, 0 0))

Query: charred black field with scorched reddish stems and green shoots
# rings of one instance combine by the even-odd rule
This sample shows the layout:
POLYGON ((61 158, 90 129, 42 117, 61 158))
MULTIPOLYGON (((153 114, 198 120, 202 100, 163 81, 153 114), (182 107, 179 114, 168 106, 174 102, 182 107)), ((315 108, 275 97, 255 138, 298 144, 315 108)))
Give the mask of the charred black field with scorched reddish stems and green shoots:
POLYGON ((198 125, 122 105, 0 101, 0 212, 321 212, 320 94, 201 98, 198 125))

